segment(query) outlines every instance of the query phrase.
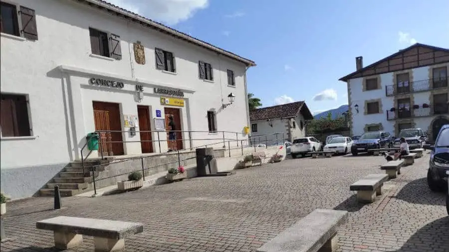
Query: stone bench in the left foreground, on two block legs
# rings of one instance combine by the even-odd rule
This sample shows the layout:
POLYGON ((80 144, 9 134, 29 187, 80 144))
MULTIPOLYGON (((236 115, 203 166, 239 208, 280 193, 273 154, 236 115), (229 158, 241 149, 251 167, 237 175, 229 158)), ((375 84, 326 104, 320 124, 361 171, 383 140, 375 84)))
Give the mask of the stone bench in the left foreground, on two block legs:
POLYGON ((57 249, 67 250, 83 243, 83 235, 94 238, 95 252, 123 251, 125 237, 143 232, 140 223, 58 216, 36 223, 37 229, 51 230, 57 249))

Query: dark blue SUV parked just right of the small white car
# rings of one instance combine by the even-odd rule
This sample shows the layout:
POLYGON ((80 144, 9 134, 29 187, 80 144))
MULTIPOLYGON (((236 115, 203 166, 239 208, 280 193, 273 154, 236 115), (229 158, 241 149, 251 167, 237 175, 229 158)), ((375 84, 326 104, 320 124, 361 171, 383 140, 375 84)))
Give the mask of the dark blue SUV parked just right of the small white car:
MULTIPOLYGON (((351 153, 356 156, 360 152, 368 152, 369 149, 389 148, 393 146, 393 139, 389 132, 366 132, 351 146, 351 153)), ((372 154, 371 152, 368 153, 372 154)))

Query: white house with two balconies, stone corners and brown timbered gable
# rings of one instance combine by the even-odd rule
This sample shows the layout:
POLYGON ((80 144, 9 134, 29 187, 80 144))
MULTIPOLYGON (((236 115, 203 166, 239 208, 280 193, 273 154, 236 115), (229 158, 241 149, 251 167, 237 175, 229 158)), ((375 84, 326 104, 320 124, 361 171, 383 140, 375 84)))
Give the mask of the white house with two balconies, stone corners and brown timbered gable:
POLYGON ((434 140, 449 123, 449 49, 416 43, 342 78, 347 83, 351 135, 422 128, 434 140))

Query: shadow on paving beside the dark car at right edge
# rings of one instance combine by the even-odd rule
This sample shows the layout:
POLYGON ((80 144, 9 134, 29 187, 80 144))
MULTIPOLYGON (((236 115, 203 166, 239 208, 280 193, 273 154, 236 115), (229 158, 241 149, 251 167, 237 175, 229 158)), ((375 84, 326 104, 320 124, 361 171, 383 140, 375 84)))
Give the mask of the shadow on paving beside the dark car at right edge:
POLYGON ((445 193, 432 192, 427 185, 426 178, 408 183, 395 198, 414 204, 446 206, 445 193))

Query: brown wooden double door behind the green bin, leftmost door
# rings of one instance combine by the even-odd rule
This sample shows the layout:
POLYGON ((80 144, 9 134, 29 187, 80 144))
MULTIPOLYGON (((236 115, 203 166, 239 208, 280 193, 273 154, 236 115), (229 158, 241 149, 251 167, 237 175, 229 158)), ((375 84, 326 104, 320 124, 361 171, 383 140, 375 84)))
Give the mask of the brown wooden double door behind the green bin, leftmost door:
POLYGON ((124 155, 119 104, 94 101, 93 110, 95 131, 100 131, 99 155, 100 151, 103 156, 124 155))

